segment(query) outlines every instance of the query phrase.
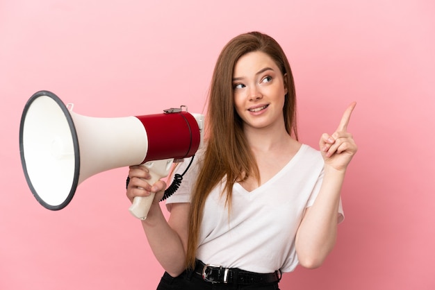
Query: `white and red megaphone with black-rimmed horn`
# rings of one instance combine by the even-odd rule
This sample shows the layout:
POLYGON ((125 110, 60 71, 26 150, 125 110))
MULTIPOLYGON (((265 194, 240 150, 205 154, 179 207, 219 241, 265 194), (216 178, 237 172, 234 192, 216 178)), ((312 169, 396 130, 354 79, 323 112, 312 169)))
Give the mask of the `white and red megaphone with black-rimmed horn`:
MULTIPOLYGON (((36 92, 19 126, 19 151, 28 187, 49 210, 61 210, 78 185, 97 173, 142 164, 152 184, 172 162, 195 155, 203 142, 204 116, 186 106, 161 114, 97 118, 73 112, 56 94, 36 92)), ((146 219, 154 194, 136 197, 130 212, 146 219)))

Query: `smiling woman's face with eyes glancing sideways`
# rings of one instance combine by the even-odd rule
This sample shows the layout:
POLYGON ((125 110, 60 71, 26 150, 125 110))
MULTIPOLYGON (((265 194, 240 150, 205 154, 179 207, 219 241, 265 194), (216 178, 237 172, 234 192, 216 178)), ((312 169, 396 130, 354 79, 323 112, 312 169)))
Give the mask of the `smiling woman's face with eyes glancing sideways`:
POLYGON ((247 53, 236 62, 233 72, 233 96, 236 112, 246 126, 274 127, 284 124, 284 100, 287 88, 279 67, 268 54, 247 53))

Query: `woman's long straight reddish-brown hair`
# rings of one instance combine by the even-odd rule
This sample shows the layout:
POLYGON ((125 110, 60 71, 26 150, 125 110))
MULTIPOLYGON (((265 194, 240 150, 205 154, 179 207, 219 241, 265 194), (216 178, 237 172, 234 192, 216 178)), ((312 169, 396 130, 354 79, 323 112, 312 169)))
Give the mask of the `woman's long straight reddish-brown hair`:
POLYGON ((295 86, 290 65, 281 46, 272 37, 259 32, 234 37, 224 46, 217 59, 208 94, 207 144, 190 207, 186 257, 188 268, 195 265, 204 204, 213 187, 226 178, 226 204, 231 208, 231 191, 234 183, 245 180, 251 174, 259 180, 255 158, 243 134, 243 121, 234 108, 232 85, 236 62, 241 56, 252 51, 267 53, 281 70, 288 90, 283 109, 284 122, 287 133, 297 139, 295 86))

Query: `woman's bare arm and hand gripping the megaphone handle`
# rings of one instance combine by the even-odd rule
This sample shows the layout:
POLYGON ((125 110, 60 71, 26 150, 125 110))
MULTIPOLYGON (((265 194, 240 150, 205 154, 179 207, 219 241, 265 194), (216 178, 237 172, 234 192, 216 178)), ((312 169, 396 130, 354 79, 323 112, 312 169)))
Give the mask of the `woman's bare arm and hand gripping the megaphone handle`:
POLYGON ((158 203, 163 196, 166 184, 158 181, 149 185, 149 173, 145 167, 130 167, 129 187, 127 196, 133 201, 135 196, 147 196, 150 192, 156 192, 147 219, 142 221, 149 246, 158 262, 165 271, 176 277, 186 268, 186 248, 188 241, 188 213, 189 203, 172 205, 170 218, 166 221, 158 203))

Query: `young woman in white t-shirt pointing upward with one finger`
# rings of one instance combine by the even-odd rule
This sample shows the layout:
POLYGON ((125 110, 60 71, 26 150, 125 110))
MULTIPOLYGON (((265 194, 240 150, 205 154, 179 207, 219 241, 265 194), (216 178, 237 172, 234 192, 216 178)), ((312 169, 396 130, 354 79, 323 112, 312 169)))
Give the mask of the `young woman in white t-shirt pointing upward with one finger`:
POLYGON ((282 272, 316 268, 334 247, 356 153, 347 133, 355 103, 320 151, 299 143, 290 65, 258 32, 224 46, 208 102, 206 145, 167 199, 167 221, 158 205, 165 182, 149 185, 145 167, 129 170, 131 201, 158 192, 142 221, 165 269, 158 289, 279 289, 282 272))

